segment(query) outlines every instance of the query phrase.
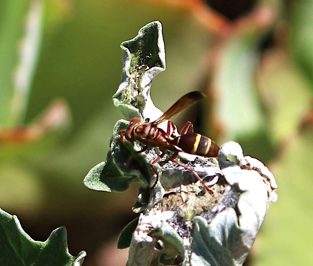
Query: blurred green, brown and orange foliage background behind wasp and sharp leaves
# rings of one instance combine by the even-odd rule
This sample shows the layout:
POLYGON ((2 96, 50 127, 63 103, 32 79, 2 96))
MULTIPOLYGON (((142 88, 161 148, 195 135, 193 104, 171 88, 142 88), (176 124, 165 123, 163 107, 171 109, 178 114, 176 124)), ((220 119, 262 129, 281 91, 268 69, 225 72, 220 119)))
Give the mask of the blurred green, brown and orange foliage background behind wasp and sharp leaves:
POLYGON ((279 201, 245 265, 312 265, 313 0, 2 0, 0 207, 35 240, 65 225, 85 266, 125 265, 116 240, 139 185, 109 194, 82 181, 122 118, 120 43, 154 20, 167 60, 155 105, 205 92, 177 125, 238 141, 276 177, 279 201))

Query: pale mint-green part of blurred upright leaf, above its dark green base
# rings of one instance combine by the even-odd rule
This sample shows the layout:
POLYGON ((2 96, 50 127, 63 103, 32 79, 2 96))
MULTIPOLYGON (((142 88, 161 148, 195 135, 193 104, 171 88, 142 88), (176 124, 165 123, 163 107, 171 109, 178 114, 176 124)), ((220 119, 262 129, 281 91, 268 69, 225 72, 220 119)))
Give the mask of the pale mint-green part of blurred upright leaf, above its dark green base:
POLYGON ((221 58, 216 81, 221 93, 218 111, 232 137, 243 131, 254 132, 262 122, 253 84, 258 60, 256 37, 259 39, 259 36, 251 32, 234 36, 225 47, 221 58))

